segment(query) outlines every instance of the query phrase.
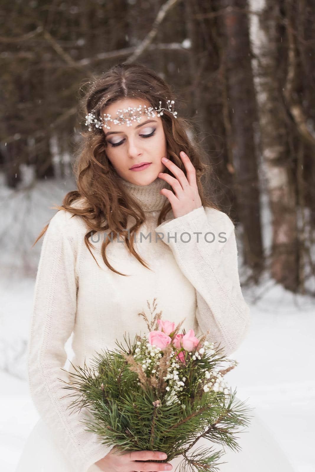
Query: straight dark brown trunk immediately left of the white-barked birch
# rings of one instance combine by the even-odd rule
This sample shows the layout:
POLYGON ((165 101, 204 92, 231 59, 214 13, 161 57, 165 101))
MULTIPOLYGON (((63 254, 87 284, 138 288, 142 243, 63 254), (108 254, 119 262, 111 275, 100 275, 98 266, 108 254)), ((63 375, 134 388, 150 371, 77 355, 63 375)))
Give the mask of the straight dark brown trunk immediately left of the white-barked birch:
POLYGON ((259 180, 253 124, 257 121, 254 79, 251 66, 247 0, 221 0, 221 8, 234 7, 221 16, 225 34, 224 58, 227 74, 230 149, 234 168, 233 188, 238 216, 244 228, 245 262, 259 279, 264 267, 261 237, 259 180))

